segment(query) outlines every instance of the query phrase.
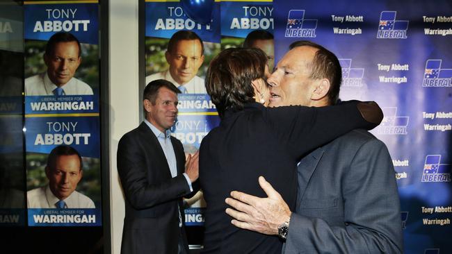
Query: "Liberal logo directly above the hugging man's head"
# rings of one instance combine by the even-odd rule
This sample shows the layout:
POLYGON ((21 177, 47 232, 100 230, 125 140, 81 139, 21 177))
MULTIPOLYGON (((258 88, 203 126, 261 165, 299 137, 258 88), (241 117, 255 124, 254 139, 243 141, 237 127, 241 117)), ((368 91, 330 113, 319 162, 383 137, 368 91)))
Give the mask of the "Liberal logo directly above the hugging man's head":
POLYGON ((317 19, 305 19, 305 10, 289 10, 285 37, 316 37, 317 19))

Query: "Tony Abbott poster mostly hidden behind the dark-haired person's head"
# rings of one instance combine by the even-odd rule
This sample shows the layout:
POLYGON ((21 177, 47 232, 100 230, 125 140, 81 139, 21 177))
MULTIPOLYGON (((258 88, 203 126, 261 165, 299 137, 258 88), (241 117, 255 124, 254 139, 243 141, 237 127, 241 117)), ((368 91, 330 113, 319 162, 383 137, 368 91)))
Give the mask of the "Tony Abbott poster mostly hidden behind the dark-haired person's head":
POLYGON ((221 1, 221 49, 258 48, 275 65, 273 0, 221 1))

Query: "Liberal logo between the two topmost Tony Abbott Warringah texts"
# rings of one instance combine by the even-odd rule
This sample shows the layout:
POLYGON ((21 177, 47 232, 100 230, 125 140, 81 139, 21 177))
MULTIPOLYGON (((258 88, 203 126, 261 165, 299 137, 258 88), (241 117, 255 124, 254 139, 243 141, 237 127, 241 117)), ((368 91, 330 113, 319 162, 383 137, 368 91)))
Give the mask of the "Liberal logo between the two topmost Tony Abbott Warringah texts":
POLYGON ((377 38, 406 39, 408 30, 407 20, 396 20, 396 11, 382 11, 378 24, 377 38))

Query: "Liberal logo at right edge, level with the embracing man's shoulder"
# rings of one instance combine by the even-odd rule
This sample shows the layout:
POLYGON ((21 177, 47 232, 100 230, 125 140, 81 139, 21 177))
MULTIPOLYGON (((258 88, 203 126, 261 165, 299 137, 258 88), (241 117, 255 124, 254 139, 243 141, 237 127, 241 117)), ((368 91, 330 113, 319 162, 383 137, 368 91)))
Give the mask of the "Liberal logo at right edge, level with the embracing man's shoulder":
POLYGON ((421 182, 450 182, 451 165, 441 164, 441 155, 427 155, 421 182))

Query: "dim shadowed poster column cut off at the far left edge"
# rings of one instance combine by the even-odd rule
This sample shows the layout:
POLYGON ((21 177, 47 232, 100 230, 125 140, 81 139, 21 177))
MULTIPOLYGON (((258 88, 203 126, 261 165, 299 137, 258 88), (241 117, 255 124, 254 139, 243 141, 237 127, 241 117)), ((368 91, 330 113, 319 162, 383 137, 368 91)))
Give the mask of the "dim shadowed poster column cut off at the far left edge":
POLYGON ((22 6, 0 3, 0 227, 26 223, 22 6))

